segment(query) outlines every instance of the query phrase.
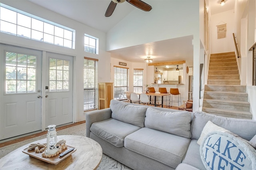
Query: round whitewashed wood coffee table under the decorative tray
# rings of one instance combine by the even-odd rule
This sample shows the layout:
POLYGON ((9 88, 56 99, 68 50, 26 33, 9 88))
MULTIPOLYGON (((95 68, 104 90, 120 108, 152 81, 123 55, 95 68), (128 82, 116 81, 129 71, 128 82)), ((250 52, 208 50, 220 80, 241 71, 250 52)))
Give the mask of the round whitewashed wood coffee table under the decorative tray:
MULTIPOLYGON (((1 170, 12 169, 36 169, 36 170, 95 170, 98 168, 102 159, 102 148, 98 142, 86 136, 61 135, 59 140, 66 140, 66 145, 75 147, 76 152, 54 165, 34 158, 22 152, 30 144, 26 144, 0 159, 1 170)), ((46 139, 37 140, 32 143, 45 143, 46 139)))

